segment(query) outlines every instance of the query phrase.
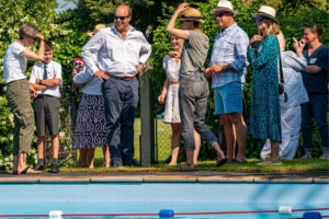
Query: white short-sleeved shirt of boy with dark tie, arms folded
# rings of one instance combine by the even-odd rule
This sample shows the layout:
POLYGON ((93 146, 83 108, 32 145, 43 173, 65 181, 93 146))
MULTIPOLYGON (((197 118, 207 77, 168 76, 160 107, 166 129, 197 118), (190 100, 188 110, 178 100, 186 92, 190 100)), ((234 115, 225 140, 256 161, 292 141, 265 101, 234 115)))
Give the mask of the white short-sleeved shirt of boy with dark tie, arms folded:
MULTIPOLYGON (((37 65, 33 66, 29 82, 35 83, 37 79, 44 80, 44 62, 38 62, 37 65)), ((52 60, 49 64, 47 64, 47 79, 53 79, 54 76, 56 79, 60 80, 59 85, 63 85, 61 66, 60 64, 52 60)), ((60 97, 59 85, 37 91, 37 94, 46 94, 60 97)))

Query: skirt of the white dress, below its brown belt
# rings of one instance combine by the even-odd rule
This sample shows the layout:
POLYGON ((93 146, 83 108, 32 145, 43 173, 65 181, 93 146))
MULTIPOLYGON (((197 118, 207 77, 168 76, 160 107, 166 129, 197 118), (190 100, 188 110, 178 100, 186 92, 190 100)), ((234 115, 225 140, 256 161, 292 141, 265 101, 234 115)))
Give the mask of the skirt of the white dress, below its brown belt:
POLYGON ((163 123, 181 123, 178 96, 179 87, 180 84, 169 84, 163 123))

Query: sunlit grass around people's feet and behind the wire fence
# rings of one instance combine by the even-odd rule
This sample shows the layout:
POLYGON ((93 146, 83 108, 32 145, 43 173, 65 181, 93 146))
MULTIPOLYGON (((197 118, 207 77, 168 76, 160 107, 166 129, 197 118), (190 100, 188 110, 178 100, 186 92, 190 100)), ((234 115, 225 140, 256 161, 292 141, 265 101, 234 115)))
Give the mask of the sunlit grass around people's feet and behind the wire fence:
MULTIPOLYGON (((103 161, 103 152, 101 148, 95 149, 94 166, 95 169, 60 169, 60 172, 172 172, 180 171, 180 163, 178 166, 168 166, 164 161, 171 153, 171 127, 169 124, 162 123, 162 119, 158 119, 158 162, 152 166, 145 168, 125 168, 125 169, 112 169, 100 168, 103 161)), ((135 155, 134 159, 139 161, 139 135, 140 135, 140 118, 135 119, 135 155)), ((328 171, 329 159, 294 159, 291 161, 283 161, 282 165, 257 165, 260 159, 248 159, 248 163, 238 164, 225 164, 216 168, 215 161, 200 161, 197 164, 197 171, 217 171, 217 172, 256 172, 256 173, 288 173, 288 172, 311 172, 311 171, 328 171)))

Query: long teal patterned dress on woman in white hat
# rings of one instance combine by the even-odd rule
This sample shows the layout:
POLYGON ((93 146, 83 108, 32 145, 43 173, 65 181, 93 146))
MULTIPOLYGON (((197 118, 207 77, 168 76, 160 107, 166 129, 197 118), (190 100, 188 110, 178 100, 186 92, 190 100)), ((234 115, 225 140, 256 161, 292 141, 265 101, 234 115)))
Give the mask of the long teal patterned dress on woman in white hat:
POLYGON ((263 43, 254 43, 253 48, 248 48, 247 57, 253 69, 249 132, 253 138, 281 142, 276 37, 269 35, 263 43))

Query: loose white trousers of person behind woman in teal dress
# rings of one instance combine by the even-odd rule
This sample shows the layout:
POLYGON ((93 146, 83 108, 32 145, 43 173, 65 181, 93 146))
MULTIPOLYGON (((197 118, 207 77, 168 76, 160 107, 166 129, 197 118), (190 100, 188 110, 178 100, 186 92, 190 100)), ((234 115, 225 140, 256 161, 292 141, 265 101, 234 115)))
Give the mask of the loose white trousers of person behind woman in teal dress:
MULTIPOLYGON (((302 124, 302 110, 300 105, 282 108, 281 110, 281 129, 282 129, 282 143, 280 145, 280 158, 282 160, 292 160, 295 158, 296 150, 299 141, 299 130, 302 124)), ((270 139, 261 151, 261 158, 269 158, 271 154, 270 139)))

